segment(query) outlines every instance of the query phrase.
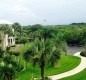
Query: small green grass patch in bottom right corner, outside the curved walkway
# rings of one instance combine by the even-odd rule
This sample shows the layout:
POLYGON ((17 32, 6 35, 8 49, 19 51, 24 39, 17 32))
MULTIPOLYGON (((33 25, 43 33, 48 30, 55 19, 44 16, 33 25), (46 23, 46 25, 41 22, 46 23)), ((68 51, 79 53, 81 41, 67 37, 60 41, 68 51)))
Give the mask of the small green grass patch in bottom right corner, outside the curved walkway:
POLYGON ((78 74, 75 74, 73 76, 69 76, 60 80, 86 80, 86 69, 84 69, 78 74))

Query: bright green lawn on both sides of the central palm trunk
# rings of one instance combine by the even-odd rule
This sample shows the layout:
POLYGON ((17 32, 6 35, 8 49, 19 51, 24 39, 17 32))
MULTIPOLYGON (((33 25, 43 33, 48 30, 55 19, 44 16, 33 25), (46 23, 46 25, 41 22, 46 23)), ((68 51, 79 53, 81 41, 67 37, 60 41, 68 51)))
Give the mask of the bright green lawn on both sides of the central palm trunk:
MULTIPOLYGON (((68 70, 75 68, 80 63, 80 58, 74 56, 64 56, 62 55, 61 60, 57 67, 46 66, 45 75, 54 75, 58 73, 62 73, 68 70)), ((33 68, 30 64, 28 64, 28 68, 25 71, 22 71, 18 74, 19 80, 31 80, 32 74, 34 77, 40 77, 40 69, 39 66, 33 68)))

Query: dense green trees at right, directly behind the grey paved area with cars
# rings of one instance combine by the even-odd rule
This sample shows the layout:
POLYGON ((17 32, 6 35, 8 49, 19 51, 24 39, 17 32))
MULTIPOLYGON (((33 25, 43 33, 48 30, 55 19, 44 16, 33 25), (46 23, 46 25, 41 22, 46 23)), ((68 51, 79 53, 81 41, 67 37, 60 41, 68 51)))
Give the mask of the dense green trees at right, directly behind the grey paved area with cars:
POLYGON ((83 45, 86 41, 86 26, 67 25, 59 29, 63 33, 63 37, 67 44, 83 45))

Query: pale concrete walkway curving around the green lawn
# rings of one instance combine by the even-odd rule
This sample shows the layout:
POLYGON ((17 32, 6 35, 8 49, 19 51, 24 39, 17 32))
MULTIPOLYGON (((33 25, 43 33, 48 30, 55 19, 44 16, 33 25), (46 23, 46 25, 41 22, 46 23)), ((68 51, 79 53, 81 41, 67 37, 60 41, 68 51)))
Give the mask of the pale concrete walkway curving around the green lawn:
POLYGON ((64 78, 64 77, 68 77, 68 76, 77 74, 80 71, 82 71, 83 69, 85 69, 86 68, 86 57, 80 56, 80 52, 75 53, 74 56, 77 56, 77 57, 81 58, 81 63, 76 68, 74 68, 70 71, 58 74, 58 75, 49 76, 49 78, 51 80, 58 80, 58 79, 61 79, 61 78, 64 78))

